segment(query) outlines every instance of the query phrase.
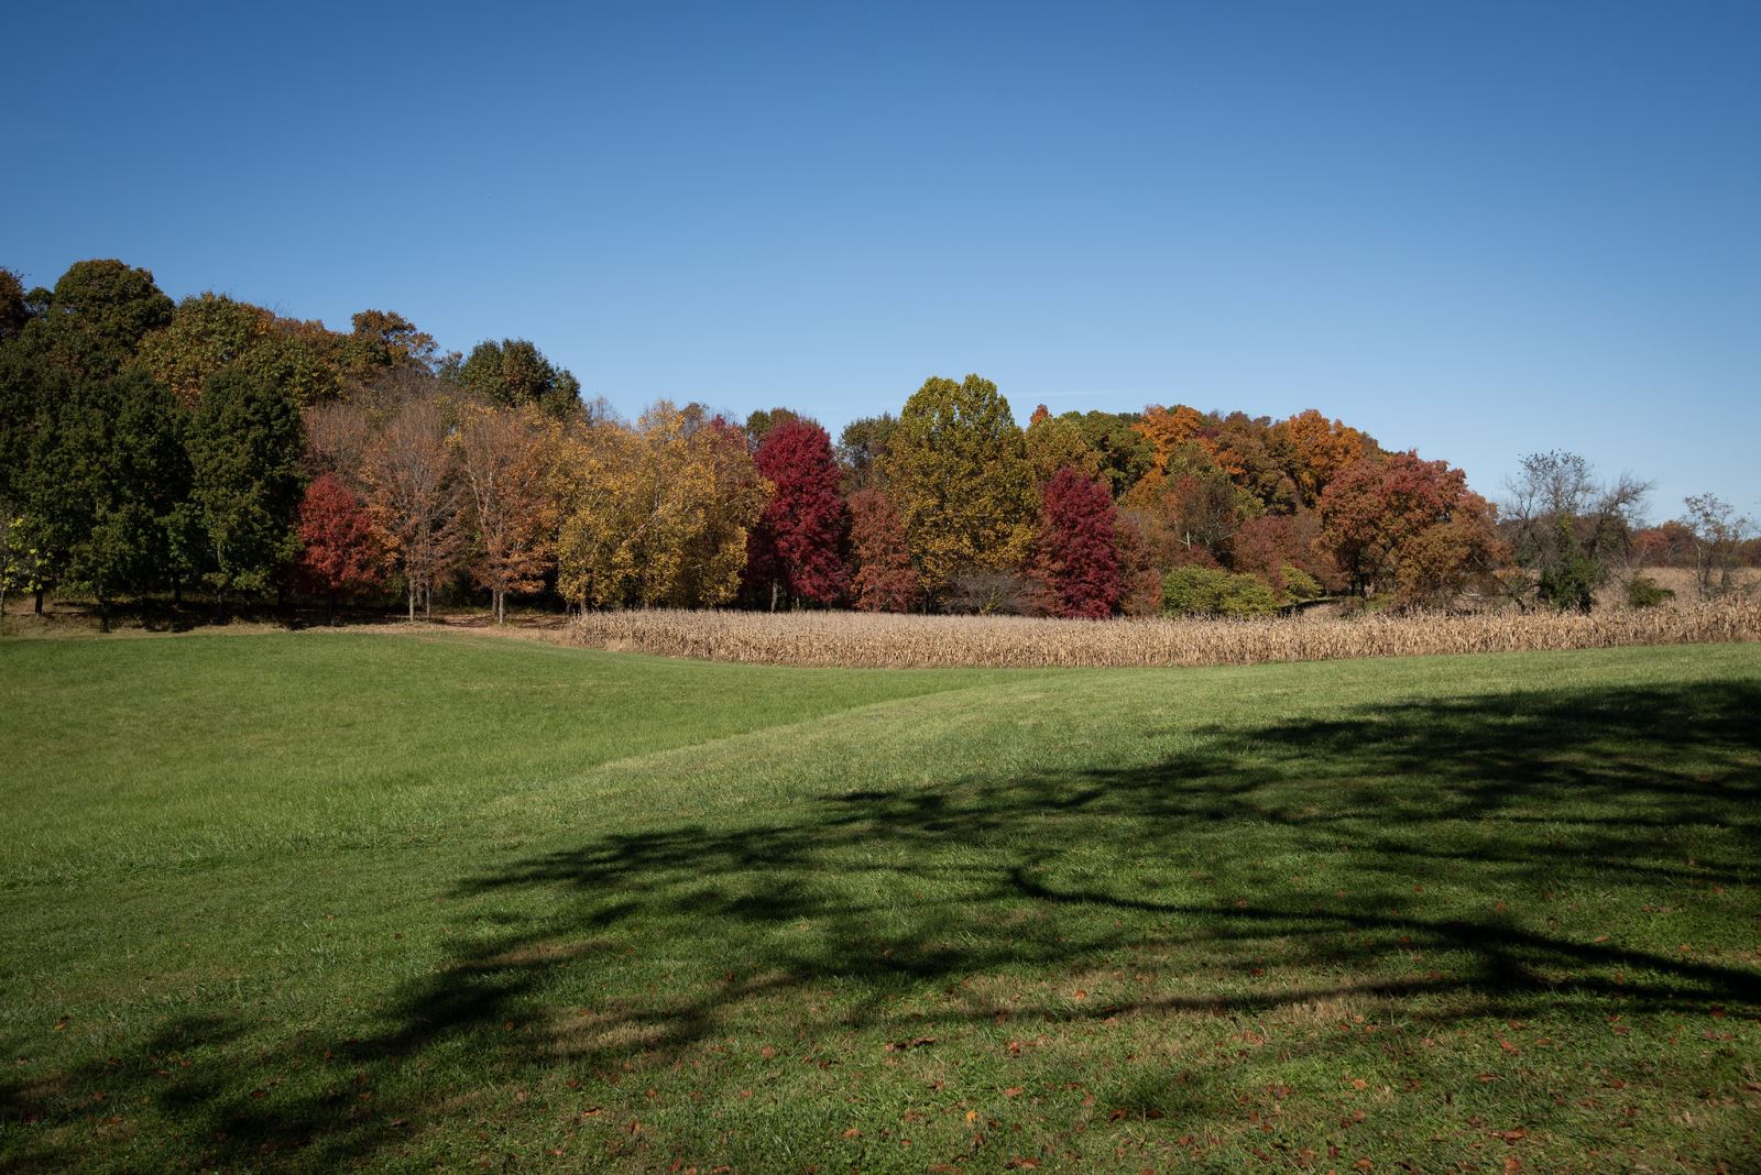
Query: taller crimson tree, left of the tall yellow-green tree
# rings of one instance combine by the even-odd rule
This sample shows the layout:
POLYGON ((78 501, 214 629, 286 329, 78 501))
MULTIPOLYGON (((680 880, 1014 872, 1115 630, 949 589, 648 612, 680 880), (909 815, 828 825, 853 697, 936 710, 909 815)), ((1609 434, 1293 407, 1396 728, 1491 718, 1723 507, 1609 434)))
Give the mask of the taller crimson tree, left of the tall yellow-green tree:
POLYGON ((748 579, 785 596, 831 603, 849 586, 849 512, 831 436, 791 419, 764 433, 752 463, 775 485, 748 544, 748 579))

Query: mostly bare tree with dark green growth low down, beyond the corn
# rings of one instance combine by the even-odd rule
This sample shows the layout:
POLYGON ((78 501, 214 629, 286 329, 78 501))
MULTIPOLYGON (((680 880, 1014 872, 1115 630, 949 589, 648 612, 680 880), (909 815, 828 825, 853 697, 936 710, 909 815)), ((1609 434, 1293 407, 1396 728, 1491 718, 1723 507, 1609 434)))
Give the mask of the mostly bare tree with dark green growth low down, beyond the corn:
POLYGON ((1518 595, 1588 612, 1595 589, 1622 563, 1650 482, 1622 473, 1601 482, 1574 452, 1536 452, 1506 480, 1500 529, 1530 573, 1506 580, 1518 595))

